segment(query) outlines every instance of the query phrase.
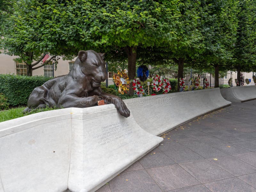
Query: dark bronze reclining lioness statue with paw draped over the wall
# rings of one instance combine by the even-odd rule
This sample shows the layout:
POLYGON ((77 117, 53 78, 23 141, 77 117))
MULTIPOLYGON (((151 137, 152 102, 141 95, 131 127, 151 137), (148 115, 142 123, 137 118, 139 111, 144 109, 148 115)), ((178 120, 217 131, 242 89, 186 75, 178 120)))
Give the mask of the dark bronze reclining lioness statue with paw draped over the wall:
POLYGON ((32 91, 23 113, 46 106, 92 107, 99 100, 104 100, 107 104, 113 103, 122 116, 130 116, 129 109, 120 97, 104 93, 100 88, 100 83, 108 78, 104 55, 93 50, 79 51, 68 75, 55 77, 32 91))

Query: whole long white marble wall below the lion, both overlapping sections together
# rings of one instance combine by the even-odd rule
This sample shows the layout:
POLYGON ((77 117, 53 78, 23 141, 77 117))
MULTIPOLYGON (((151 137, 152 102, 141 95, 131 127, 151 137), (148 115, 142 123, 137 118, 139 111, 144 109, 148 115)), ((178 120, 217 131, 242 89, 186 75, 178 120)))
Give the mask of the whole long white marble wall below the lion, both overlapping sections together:
POLYGON ((219 88, 65 108, 0 123, 0 192, 95 191, 155 148, 161 135, 231 103, 219 88))

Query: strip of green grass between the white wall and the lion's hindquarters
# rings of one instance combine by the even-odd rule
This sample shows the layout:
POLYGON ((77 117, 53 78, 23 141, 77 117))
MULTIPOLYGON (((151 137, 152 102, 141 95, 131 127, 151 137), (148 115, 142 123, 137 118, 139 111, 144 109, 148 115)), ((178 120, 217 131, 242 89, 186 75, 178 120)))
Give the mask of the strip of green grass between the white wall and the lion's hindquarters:
POLYGON ((16 118, 19 118, 19 117, 27 116, 27 115, 42 112, 42 111, 50 111, 50 110, 54 110, 54 109, 57 109, 57 108, 36 109, 36 110, 33 110, 30 113, 23 114, 22 111, 24 109, 25 109, 25 107, 18 107, 18 108, 12 108, 12 109, 9 109, 9 110, 5 110, 5 111, 0 111, 0 122, 8 121, 8 120, 11 120, 11 119, 16 119, 16 118))

